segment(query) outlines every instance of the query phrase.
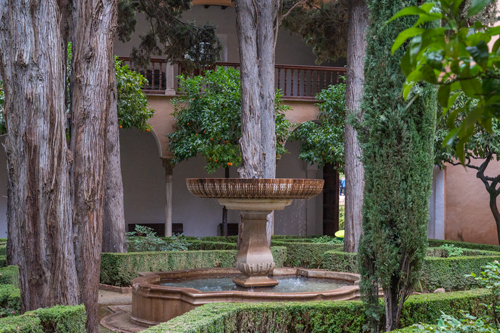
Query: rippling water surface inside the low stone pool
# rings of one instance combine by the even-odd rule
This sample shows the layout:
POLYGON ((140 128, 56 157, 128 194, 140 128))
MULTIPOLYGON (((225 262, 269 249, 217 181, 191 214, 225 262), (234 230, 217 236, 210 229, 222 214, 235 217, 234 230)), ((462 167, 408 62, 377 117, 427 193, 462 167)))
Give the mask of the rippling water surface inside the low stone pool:
POLYGON ((169 287, 193 288, 203 292, 239 290, 273 293, 320 292, 351 285, 346 281, 334 279, 308 278, 303 276, 273 276, 273 279, 279 282, 279 285, 276 287, 243 288, 234 284, 232 281, 233 277, 234 276, 212 276, 210 278, 201 279, 165 280, 162 281, 161 285, 169 287))

